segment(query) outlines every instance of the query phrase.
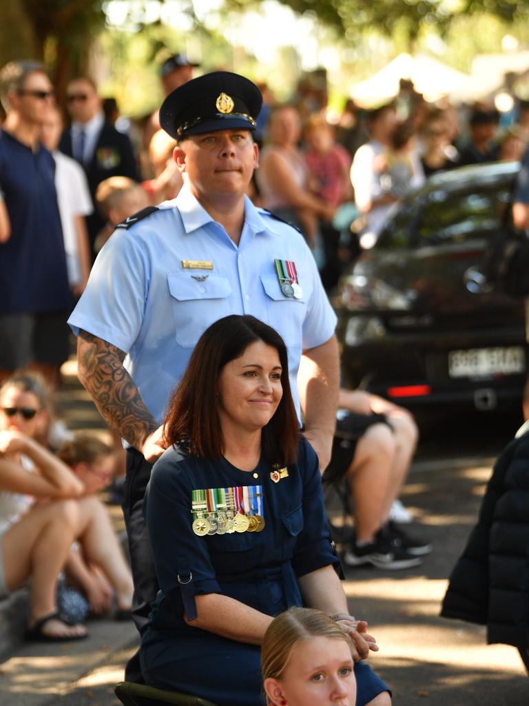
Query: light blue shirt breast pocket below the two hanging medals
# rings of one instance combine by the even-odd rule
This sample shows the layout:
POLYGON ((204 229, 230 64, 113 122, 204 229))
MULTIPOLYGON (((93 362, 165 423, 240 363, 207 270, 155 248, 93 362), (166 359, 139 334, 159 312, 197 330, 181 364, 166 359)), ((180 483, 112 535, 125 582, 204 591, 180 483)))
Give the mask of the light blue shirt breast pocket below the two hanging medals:
POLYGON ((279 280, 274 275, 261 275, 261 284, 265 289, 269 325, 281 334, 288 347, 300 348, 308 292, 304 291, 300 282, 301 296, 298 299, 286 297, 281 291, 279 280))

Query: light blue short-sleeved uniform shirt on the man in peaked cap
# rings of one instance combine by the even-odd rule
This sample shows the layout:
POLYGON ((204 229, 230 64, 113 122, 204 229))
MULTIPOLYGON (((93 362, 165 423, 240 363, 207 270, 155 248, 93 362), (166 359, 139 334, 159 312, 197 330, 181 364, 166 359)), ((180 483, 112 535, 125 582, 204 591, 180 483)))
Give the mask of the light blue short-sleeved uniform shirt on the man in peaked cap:
POLYGON ((312 253, 300 233, 248 198, 236 246, 184 186, 158 211, 114 232, 68 323, 75 335, 83 329, 127 353, 124 366, 161 423, 200 335, 234 313, 251 314, 283 337, 299 415, 301 353, 329 340, 336 326, 312 253), (281 292, 275 258, 295 263, 300 299, 281 292), (213 269, 186 269, 184 260, 213 269))

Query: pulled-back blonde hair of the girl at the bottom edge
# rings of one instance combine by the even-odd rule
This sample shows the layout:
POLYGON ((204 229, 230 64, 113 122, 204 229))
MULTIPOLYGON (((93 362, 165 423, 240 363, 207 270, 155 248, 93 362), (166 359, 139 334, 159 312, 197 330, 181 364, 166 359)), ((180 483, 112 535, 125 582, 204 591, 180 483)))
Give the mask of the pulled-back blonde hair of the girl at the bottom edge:
POLYGON ((262 678, 281 679, 293 648, 300 640, 333 638, 347 643, 346 633, 322 611, 290 608, 274 618, 262 641, 262 678))

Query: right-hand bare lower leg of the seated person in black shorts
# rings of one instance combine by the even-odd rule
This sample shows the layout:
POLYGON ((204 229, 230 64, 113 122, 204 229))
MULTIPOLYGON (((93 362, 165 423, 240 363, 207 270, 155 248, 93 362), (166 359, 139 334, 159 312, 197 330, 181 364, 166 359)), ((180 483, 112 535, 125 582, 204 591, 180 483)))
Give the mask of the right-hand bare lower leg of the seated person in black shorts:
POLYGON ((387 496, 382 510, 382 520, 387 522, 391 504, 399 497, 403 482, 406 480, 410 468, 419 432, 415 420, 405 410, 391 412, 388 421, 394 430, 395 452, 391 474, 387 486, 387 496))

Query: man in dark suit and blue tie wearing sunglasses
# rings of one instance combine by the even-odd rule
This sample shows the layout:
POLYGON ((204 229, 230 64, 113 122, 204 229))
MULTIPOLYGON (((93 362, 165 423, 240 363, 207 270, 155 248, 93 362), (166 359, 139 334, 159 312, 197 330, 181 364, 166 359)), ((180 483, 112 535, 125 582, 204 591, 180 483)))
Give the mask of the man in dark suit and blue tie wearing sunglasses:
POLYGON ((92 79, 75 78, 66 91, 72 124, 63 132, 59 149, 83 165, 94 202, 94 212, 87 217, 90 245, 94 246, 104 220, 95 205, 97 186, 108 177, 138 180, 138 166, 128 136, 105 122, 102 100, 92 79))

